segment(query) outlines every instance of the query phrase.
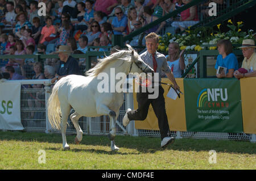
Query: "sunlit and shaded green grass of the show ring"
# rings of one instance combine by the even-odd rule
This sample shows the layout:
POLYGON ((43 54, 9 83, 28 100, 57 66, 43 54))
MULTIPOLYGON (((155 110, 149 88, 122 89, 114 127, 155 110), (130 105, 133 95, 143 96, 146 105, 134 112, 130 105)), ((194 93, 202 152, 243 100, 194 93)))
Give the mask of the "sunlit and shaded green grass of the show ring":
POLYGON ((67 135, 71 150, 63 151, 60 134, 0 131, 0 169, 256 169, 256 145, 247 141, 183 138, 161 149, 160 138, 117 136, 113 152, 106 136, 84 136, 80 145, 74 138, 67 135), (209 150, 217 151, 216 164, 209 150))

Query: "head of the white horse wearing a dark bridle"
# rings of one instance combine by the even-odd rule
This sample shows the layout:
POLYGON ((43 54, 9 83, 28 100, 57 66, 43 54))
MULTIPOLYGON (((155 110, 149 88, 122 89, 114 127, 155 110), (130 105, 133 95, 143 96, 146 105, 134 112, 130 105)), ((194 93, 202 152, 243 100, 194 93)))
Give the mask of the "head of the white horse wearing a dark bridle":
POLYGON ((145 62, 139 57, 139 54, 131 48, 130 45, 126 45, 131 50, 131 66, 130 71, 131 73, 154 73, 154 70, 150 68, 145 62))

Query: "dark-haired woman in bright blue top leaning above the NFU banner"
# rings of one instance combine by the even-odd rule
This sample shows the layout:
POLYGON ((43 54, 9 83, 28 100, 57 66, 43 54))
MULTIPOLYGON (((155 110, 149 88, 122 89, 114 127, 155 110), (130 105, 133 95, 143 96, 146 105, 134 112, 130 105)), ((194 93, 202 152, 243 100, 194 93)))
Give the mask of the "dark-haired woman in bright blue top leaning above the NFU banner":
POLYGON ((238 69, 237 57, 232 53, 232 43, 229 40, 220 40, 217 43, 218 52, 215 69, 222 67, 220 72, 216 73, 217 78, 233 77, 234 71, 238 69), (226 68, 226 71, 224 69, 226 68))

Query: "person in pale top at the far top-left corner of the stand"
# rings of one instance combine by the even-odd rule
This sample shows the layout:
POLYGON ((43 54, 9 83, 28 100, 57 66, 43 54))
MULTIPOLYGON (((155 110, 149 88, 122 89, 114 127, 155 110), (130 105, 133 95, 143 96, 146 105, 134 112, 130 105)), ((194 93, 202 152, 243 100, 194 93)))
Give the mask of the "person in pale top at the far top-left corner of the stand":
POLYGON ((3 30, 1 30, 1 31, 13 30, 13 27, 15 26, 16 14, 14 12, 14 3, 13 2, 7 2, 6 3, 6 9, 7 9, 8 12, 5 14, 5 19, 2 19, 2 23, 5 24, 5 28, 3 28, 3 30))

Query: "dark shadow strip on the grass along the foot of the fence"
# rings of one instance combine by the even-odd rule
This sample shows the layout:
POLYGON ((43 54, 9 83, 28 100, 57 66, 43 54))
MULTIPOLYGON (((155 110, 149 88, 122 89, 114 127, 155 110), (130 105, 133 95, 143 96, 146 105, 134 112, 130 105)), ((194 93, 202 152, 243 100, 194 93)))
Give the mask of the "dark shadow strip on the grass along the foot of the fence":
MULTIPOLYGON (((109 146, 109 151, 102 149, 78 149, 73 148, 75 134, 67 134, 67 142, 71 146, 71 151, 90 151, 92 153, 101 154, 143 154, 155 153, 156 151, 170 150, 170 151, 210 151, 216 150, 217 153, 235 153, 235 154, 256 154, 255 144, 248 141, 228 141, 228 140, 207 140, 207 139, 193 139, 182 138, 175 140, 174 144, 167 146, 167 148, 160 148, 160 138, 158 137, 131 137, 131 136, 117 136, 115 137, 115 144, 120 148, 120 151, 110 150, 110 141, 107 136, 83 136, 80 145, 85 146, 109 146), (122 149, 134 149, 138 153, 123 153, 122 149)), ((62 150, 62 138, 59 133, 38 133, 38 132, 1 132, 0 141, 16 140, 16 141, 36 141, 49 142, 58 144, 57 148, 47 148, 51 150, 62 150)))

